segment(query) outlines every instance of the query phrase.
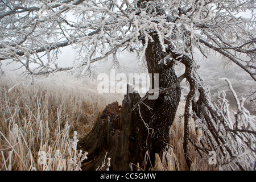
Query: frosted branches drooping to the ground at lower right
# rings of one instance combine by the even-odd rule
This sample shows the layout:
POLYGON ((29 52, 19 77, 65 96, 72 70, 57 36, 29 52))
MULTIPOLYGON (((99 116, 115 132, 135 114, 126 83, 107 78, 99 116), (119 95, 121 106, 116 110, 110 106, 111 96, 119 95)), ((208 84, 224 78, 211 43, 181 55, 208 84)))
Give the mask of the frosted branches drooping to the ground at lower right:
POLYGON ((227 78, 223 79, 228 83, 236 99, 237 111, 230 113, 229 102, 225 98, 224 91, 222 95, 218 94, 219 97, 214 106, 205 103, 204 111, 207 111, 211 118, 195 117, 197 125, 203 131, 201 132, 203 136, 200 138, 201 144, 208 143, 207 150, 217 151, 217 162, 220 169, 255 170, 256 117, 243 107, 245 99, 237 97, 231 82, 227 78), (208 120, 206 121, 206 119, 208 120))

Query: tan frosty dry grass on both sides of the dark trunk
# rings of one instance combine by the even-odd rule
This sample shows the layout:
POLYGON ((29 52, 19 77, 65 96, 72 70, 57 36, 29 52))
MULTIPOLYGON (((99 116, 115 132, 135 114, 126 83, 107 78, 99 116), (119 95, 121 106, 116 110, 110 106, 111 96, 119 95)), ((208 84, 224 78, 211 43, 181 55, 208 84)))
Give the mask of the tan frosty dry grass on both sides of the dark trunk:
MULTIPOLYGON (((0 170, 75 170, 86 157, 76 151, 80 139, 93 127, 98 113, 122 96, 96 92, 96 84, 67 76, 41 78, 34 85, 18 85, 17 80, 0 80, 0 170), (42 165, 40 155, 49 158, 42 165), (40 153, 41 152, 41 153, 40 153), (41 163, 40 163, 41 162, 41 163)), ((156 155, 154 170, 187 170, 183 154, 183 106, 171 127, 171 141, 162 156, 156 155)), ((195 127, 193 123, 191 127, 195 127)), ((195 131, 195 130, 192 130, 195 131)), ((195 133, 191 133, 197 139, 195 133)), ((189 147, 192 170, 213 170, 189 147)))

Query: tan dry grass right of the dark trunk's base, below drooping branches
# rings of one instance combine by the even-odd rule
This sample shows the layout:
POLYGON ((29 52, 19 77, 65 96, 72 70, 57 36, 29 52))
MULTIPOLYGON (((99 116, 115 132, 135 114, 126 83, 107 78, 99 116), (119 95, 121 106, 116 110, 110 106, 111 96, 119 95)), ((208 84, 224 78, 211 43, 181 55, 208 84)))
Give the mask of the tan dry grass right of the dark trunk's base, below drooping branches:
MULTIPOLYGON (((188 170, 187 164, 184 158, 183 151, 183 135, 184 135, 184 120, 180 118, 180 115, 184 113, 184 104, 180 103, 179 108, 177 110, 176 118, 174 123, 171 126, 171 140, 170 144, 166 147, 166 149, 161 154, 161 157, 156 154, 155 156, 155 166, 152 168, 156 171, 185 171, 188 170)), ((198 144, 199 138, 196 134, 195 123, 193 119, 190 123, 190 133, 189 135, 193 139, 193 142, 198 144)), ((209 164, 209 156, 202 154, 203 158, 196 151, 195 147, 189 143, 188 146, 189 157, 192 161, 191 171, 213 171, 217 170, 217 167, 214 167, 209 164)))

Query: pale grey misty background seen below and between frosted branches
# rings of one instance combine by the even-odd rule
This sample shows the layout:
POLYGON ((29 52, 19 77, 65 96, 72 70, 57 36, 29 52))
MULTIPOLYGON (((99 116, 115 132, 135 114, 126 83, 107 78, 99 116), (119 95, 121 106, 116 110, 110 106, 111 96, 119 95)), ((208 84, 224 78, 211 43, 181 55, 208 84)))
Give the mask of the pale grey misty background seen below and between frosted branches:
MULTIPOLYGON (((58 56, 56 61, 58 67, 71 67, 76 64, 76 50, 72 46, 68 46, 60 49, 61 53, 58 56), (75 61, 75 63, 74 63, 75 61)), ((209 56, 207 59, 201 55, 201 53, 195 51, 194 59, 196 63, 200 66, 197 70, 199 76, 205 82, 205 85, 209 86, 212 100, 215 102, 218 96, 217 92, 226 92, 226 98, 229 101, 230 109, 236 109, 236 102, 232 96, 228 84, 221 80, 220 78, 226 77, 232 83, 233 89, 236 91, 239 98, 248 97, 250 94, 255 92, 256 84, 251 79, 251 77, 246 74, 242 68, 238 67, 235 64, 232 64, 231 61, 223 60, 220 55, 217 53, 209 56)), ((127 78, 129 73, 147 73, 146 63, 139 63, 139 57, 136 52, 127 52, 122 51, 117 54, 116 57, 110 56, 108 59, 98 61, 90 65, 90 72, 88 75, 80 75, 79 72, 73 72, 71 75, 67 73, 54 73, 55 75, 67 74, 71 79, 82 79, 84 80, 84 85, 88 86, 88 80, 98 84, 97 76, 100 73, 106 73, 110 75, 110 69, 115 69, 115 75, 118 73, 125 73, 127 78)), ((11 63, 7 64, 8 60, 1 61, 1 69, 3 77, 13 76, 18 78, 20 73, 24 71, 24 68, 20 68, 20 63, 11 63)), ((180 76, 184 73, 184 68, 181 65, 177 65, 176 74, 180 76)), ((2 77, 2 78, 3 78, 2 77)), ((45 76, 35 77, 35 81, 42 79, 45 76)), ((182 93, 183 97, 181 100, 185 100, 186 93, 188 92, 187 84, 185 79, 181 82, 181 87, 183 88, 182 93)), ((222 96, 222 94, 221 94, 222 96)), ((250 111, 251 114, 256 115, 255 105, 250 103, 249 100, 245 102, 245 107, 250 111)))

